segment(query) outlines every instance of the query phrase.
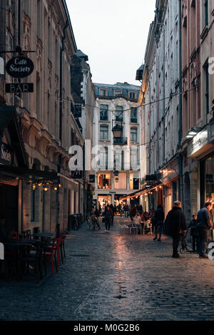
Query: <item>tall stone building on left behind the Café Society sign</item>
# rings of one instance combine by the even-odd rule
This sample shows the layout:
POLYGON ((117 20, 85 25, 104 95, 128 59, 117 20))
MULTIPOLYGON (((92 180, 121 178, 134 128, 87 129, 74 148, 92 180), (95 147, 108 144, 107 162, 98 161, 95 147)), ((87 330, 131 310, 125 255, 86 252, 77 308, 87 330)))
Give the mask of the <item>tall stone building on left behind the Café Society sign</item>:
POLYGON ((68 169, 73 143, 84 138, 71 93, 77 51, 64 0, 1 0, 1 58, 27 56, 34 71, 21 80, 0 74, 1 215, 8 227, 64 230, 68 214, 83 211, 83 185, 68 169), (20 6, 19 6, 20 5, 20 6), (15 51, 20 46, 19 53, 15 51), (5 93, 5 83, 34 83, 33 93, 5 93), (11 156, 10 156, 11 155, 11 156), (11 199, 13 200, 11 202, 11 199))

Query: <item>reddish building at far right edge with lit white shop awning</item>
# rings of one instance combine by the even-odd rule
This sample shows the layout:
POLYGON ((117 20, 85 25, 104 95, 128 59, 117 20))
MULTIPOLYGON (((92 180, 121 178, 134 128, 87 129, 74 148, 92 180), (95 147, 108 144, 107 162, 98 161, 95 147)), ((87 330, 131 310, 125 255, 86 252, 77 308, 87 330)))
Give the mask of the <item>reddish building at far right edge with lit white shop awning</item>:
MULTIPOLYGON (((183 90, 190 90, 183 96, 182 150, 190 214, 206 200, 214 203, 213 16, 213 0, 182 1, 183 90)), ((214 222, 214 210, 212 216, 214 222)))

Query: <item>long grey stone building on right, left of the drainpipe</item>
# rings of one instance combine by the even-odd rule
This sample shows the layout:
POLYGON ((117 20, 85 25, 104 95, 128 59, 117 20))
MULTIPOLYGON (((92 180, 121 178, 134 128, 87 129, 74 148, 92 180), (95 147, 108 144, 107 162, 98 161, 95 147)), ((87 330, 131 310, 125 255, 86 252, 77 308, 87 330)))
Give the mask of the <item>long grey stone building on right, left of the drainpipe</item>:
POLYGON ((165 213, 179 196, 179 1, 156 1, 148 34, 139 105, 143 114, 144 210, 165 213))

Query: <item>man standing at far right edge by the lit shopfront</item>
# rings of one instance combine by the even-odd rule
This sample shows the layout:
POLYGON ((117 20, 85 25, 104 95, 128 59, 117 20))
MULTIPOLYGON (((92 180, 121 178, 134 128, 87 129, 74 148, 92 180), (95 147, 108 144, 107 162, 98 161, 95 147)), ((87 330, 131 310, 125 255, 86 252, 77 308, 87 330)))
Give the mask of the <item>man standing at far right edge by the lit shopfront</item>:
POLYGON ((197 215, 197 229, 199 235, 199 257, 208 258, 205 254, 205 247, 208 242, 208 232, 213 227, 211 223, 210 210, 213 208, 213 203, 210 201, 205 202, 204 207, 198 212, 197 215))

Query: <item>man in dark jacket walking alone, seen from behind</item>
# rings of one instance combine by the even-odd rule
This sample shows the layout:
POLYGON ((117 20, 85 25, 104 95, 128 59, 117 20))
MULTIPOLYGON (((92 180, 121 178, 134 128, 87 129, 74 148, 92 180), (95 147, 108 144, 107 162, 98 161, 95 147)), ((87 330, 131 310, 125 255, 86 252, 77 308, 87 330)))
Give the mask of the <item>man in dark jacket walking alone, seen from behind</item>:
POLYGON ((178 254, 180 234, 185 233, 186 230, 185 215, 181 210, 181 202, 175 201, 173 209, 168 212, 165 219, 165 234, 173 237, 173 258, 180 257, 178 254))

